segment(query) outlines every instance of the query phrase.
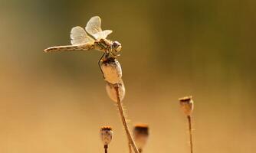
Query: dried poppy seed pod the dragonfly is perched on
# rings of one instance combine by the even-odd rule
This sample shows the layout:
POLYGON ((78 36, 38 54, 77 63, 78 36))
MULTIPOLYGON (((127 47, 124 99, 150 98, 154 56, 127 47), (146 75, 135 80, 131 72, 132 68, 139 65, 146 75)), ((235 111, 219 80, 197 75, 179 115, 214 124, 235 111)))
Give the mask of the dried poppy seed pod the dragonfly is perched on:
POLYGON ((104 79, 112 84, 119 83, 122 78, 122 68, 115 58, 108 58, 100 64, 104 79))

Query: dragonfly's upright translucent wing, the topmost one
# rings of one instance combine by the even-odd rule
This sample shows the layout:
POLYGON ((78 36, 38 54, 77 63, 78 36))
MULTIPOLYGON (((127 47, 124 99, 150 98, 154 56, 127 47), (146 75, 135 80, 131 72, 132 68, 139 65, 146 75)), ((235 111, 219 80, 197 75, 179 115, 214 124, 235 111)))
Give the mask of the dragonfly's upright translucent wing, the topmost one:
POLYGON ((90 18, 90 20, 87 22, 85 30, 92 36, 94 36, 94 34, 101 32, 102 30, 100 17, 95 16, 90 18))

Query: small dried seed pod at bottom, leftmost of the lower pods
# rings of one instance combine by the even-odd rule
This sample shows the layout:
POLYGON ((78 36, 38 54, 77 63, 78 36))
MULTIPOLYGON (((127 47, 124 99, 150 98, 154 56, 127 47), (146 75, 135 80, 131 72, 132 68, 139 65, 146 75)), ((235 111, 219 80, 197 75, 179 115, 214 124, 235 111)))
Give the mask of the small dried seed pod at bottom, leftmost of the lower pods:
POLYGON ((103 126, 100 128, 100 139, 103 145, 109 145, 112 140, 113 131, 110 126, 103 126))

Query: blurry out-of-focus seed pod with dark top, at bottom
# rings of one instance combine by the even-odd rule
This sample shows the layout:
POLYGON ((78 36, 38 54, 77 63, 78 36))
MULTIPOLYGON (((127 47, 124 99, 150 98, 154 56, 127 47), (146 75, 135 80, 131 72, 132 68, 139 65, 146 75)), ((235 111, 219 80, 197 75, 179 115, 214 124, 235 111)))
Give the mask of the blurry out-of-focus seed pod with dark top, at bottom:
POLYGON ((139 152, 142 152, 149 137, 149 126, 146 124, 135 125, 133 128, 133 137, 139 152))

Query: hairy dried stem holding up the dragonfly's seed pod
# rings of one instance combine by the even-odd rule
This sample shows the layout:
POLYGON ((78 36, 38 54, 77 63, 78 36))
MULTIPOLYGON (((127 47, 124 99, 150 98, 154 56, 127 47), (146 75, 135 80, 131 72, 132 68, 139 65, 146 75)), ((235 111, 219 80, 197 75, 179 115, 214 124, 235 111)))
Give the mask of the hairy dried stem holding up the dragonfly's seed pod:
POLYGON ((121 100, 120 100, 119 85, 115 86, 115 90, 116 90, 116 93, 117 93, 117 107, 118 107, 119 112, 120 112, 120 117, 121 117, 122 122, 123 122, 123 127, 124 127, 124 129, 126 131, 129 147, 131 145, 133 147, 133 151, 135 153, 139 153, 139 150, 138 150, 138 148, 136 148, 135 142, 133 141, 133 137, 130 134, 130 130, 129 130, 127 122, 126 122, 126 118, 124 116, 123 106, 122 106, 122 103, 121 103, 121 100))

